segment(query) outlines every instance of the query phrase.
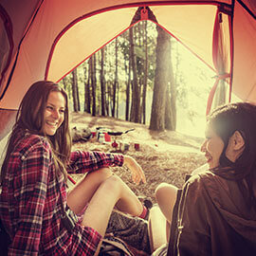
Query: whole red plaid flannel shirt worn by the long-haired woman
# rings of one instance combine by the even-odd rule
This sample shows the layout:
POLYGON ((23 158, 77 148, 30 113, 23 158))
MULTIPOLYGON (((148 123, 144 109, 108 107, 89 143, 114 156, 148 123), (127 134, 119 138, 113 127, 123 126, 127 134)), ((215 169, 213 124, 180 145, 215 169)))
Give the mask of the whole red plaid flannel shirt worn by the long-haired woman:
MULTIPOLYGON (((46 137, 18 137, 9 158, 0 197, 0 215, 12 243, 10 255, 94 255, 101 235, 77 223, 72 234, 61 223, 60 192, 46 137)), ((101 167, 121 166, 122 155, 74 152, 70 172, 86 173, 101 167)), ((59 177, 64 204, 64 176, 59 177)))

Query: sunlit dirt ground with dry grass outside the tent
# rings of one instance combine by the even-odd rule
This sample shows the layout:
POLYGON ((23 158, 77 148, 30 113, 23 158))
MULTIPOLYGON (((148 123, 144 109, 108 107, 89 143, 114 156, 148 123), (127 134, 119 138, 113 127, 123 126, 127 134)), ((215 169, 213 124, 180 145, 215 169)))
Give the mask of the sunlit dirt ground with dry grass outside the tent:
MULTIPOLYGON (((71 115, 71 127, 79 130, 89 128, 91 132, 96 127, 104 127, 107 131, 125 132, 135 129, 127 134, 116 137, 118 143, 126 143, 129 149, 123 154, 133 156, 142 167, 147 183, 137 186, 132 182, 129 170, 124 167, 113 168, 113 171, 128 184, 139 196, 150 197, 155 202, 155 187, 161 182, 174 184, 181 188, 186 174, 205 163, 205 157, 200 153, 201 137, 190 137, 177 132, 152 132, 148 126, 113 118, 91 117, 88 114, 73 113, 71 115), (139 150, 135 149, 135 143, 139 144, 139 150)), ((95 138, 86 142, 76 142, 73 150, 99 150, 113 152, 112 142, 99 143, 95 138)), ((81 174, 72 175, 78 181, 81 174)))

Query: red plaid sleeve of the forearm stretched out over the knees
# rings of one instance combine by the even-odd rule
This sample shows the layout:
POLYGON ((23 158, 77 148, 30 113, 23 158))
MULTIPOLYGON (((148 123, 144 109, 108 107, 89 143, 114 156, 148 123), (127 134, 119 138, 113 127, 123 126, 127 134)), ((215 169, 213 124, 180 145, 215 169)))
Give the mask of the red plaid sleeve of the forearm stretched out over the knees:
POLYGON ((122 166, 123 155, 106 154, 103 152, 72 152, 68 173, 83 174, 103 167, 122 166))

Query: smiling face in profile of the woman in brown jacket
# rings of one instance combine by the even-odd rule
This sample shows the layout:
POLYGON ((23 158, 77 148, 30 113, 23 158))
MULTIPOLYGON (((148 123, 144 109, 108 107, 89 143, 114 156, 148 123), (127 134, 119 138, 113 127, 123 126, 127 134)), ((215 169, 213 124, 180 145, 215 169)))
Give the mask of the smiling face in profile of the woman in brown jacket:
POLYGON ((201 151, 205 153, 209 168, 219 166, 220 155, 224 149, 224 142, 221 137, 212 130, 210 125, 206 129, 206 139, 201 146, 201 151))

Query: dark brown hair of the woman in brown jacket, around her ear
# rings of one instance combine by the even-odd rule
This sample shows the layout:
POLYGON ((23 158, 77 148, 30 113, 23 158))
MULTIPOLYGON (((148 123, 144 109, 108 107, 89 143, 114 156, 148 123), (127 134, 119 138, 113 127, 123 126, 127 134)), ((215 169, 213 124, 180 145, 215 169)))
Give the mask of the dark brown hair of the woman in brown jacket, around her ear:
POLYGON ((247 205, 256 210, 256 105, 248 102, 230 103, 215 109, 208 120, 210 127, 224 142, 220 164, 211 171, 235 180, 247 205), (236 131, 244 138, 245 148, 235 162, 231 162, 226 150, 229 137, 236 131))

